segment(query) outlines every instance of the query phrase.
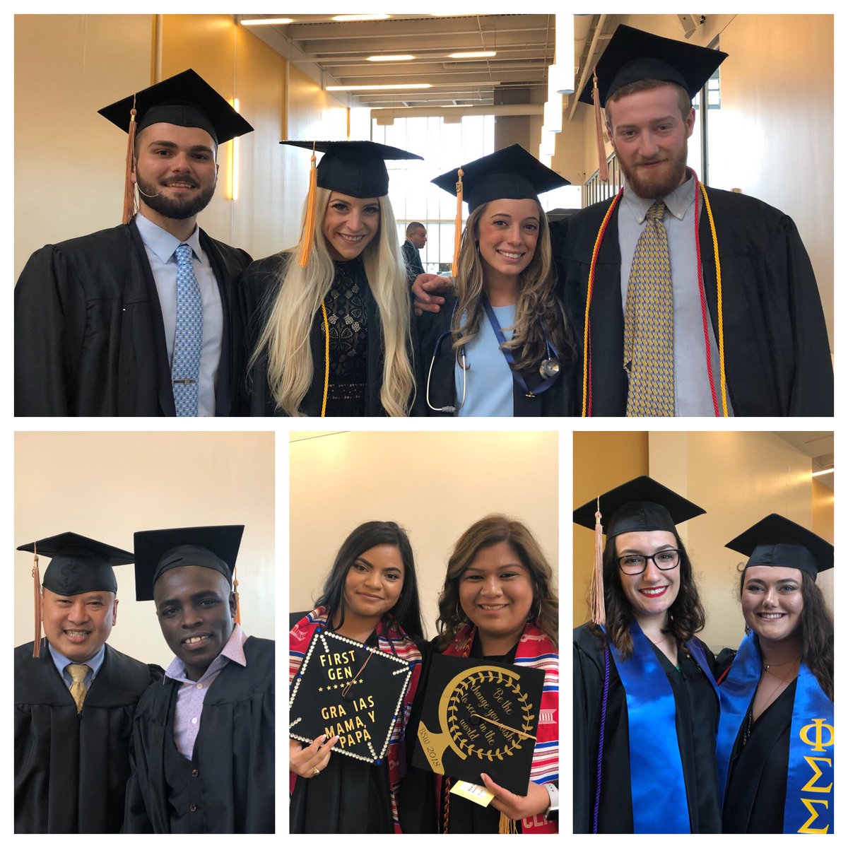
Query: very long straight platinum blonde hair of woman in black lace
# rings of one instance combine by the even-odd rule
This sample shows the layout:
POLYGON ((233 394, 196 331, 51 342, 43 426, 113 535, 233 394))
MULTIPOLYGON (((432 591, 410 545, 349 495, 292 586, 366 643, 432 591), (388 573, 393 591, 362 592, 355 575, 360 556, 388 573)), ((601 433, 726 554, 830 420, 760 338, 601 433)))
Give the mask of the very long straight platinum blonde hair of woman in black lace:
MULTIPOLYGON (((332 192, 319 188, 315 198, 315 242, 305 268, 298 264, 300 243, 287 251, 288 261, 276 286, 276 295, 259 342, 251 356, 254 365, 266 352, 268 385, 278 409, 302 416, 300 404, 312 384, 310 330, 321 302, 332 287, 335 266, 322 230, 332 192)), ((377 302, 382 324, 383 370, 380 402, 390 416, 405 416, 415 391, 410 362, 410 290, 398 243, 397 225, 388 197, 377 198, 380 227, 362 252, 368 285, 377 302)), ((304 207, 305 216, 305 207, 304 207)), ((303 241, 301 234, 300 241, 303 241)), ((376 328, 372 328, 376 329, 376 328)))

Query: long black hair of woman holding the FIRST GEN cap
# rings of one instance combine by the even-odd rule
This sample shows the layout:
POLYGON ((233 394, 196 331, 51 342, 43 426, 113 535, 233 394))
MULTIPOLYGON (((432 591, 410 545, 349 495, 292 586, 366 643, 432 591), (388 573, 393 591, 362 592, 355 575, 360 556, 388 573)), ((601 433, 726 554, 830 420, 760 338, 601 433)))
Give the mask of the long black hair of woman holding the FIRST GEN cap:
POLYGON ((365 522, 350 533, 338 549, 317 605, 326 608, 328 623, 332 623, 337 610, 341 612, 341 622, 344 621, 344 583, 350 566, 358 556, 377 544, 393 545, 399 550, 400 559, 404 563, 404 583, 400 587, 400 596, 387 615, 404 629, 410 639, 423 639, 415 557, 406 531, 395 522, 365 522))

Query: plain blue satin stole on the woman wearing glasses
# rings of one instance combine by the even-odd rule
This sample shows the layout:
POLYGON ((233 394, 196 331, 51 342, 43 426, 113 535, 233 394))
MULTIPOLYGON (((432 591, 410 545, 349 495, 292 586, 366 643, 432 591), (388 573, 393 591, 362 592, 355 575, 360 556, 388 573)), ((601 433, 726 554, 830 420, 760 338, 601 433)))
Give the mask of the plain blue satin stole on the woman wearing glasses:
MULTIPOLYGON (((688 834, 689 804, 683 762, 680 759, 676 708, 672 684, 656 658, 650 640, 637 622, 630 627, 633 656, 625 660, 610 644, 618 675, 628 701, 630 744, 630 794, 633 799, 633 833, 688 834)), ((706 678, 718 690, 700 645, 686 643, 706 678)))

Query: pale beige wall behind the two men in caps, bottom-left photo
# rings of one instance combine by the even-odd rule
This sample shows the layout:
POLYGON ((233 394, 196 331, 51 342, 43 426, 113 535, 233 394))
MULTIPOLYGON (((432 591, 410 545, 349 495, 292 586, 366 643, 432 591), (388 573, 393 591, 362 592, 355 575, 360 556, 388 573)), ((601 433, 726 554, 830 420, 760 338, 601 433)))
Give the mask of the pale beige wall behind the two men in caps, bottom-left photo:
MULTIPOLYGON (((273 433, 18 432, 14 468, 15 547, 70 530, 132 550, 137 530, 244 524, 242 625, 274 638, 273 433)), ((14 644, 33 636, 31 566, 31 554, 14 551, 14 644)), ((166 666, 172 655, 153 601, 135 600, 133 567, 115 569, 109 644, 166 666)))

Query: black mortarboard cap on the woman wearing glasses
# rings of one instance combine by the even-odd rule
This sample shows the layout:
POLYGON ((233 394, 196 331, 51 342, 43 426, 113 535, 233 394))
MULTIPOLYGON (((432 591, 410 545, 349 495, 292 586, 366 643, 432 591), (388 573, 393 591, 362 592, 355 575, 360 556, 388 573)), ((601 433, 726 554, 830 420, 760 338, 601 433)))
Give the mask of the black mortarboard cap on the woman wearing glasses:
MULTIPOLYGON (((597 502, 592 499, 574 510, 574 522, 592 530, 596 511, 597 502)), ((647 476, 635 477, 600 495, 601 523, 605 527, 606 538, 619 533, 652 530, 674 533, 675 525, 705 512, 697 504, 647 476)))

